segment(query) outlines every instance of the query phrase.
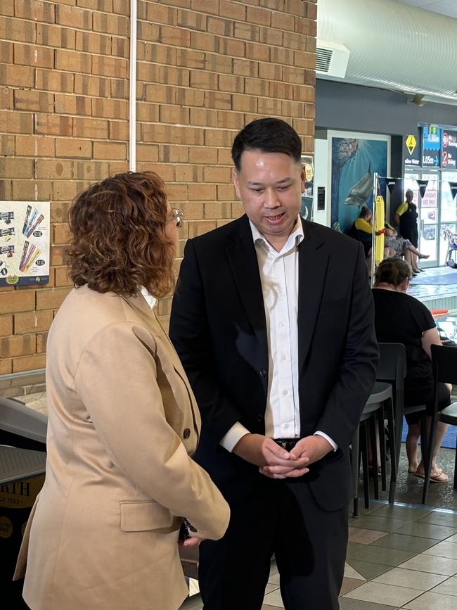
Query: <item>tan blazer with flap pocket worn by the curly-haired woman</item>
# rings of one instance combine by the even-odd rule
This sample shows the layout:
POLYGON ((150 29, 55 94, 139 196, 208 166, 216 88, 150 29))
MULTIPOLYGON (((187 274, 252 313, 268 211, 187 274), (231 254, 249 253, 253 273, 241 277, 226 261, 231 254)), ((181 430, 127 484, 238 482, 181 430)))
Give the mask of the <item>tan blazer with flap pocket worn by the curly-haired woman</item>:
POLYGON ((15 578, 32 610, 174 610, 187 595, 178 530, 218 539, 229 510, 189 455, 200 414, 142 296, 86 286, 48 338, 46 481, 15 578))

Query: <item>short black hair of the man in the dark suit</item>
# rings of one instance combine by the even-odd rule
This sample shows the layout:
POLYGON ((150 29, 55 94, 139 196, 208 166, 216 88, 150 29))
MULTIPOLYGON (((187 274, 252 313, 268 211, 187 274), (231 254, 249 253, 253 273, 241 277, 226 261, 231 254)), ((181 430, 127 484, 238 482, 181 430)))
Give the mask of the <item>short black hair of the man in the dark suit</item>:
POLYGON ((299 162, 302 156, 302 141, 295 129, 282 119, 256 119, 243 127, 233 141, 232 159, 238 172, 241 167, 241 155, 244 151, 254 150, 262 153, 284 153, 299 162))

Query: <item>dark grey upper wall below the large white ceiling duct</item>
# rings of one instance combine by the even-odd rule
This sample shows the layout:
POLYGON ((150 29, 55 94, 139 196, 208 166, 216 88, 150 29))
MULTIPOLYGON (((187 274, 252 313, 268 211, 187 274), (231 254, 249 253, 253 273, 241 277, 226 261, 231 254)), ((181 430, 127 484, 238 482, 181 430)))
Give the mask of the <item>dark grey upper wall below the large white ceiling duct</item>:
POLYGON ((316 129, 387 135, 416 133, 418 123, 457 126, 457 106, 406 103, 402 93, 359 85, 316 81, 316 129))

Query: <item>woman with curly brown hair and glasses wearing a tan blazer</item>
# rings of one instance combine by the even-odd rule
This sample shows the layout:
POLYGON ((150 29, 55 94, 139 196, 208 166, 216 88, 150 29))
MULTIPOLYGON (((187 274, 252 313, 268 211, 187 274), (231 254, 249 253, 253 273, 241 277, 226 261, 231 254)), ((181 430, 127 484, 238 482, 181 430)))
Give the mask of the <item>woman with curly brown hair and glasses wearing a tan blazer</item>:
POLYGON ((190 457, 191 386, 153 312, 182 217, 153 172, 117 174, 72 204, 75 288, 47 347, 46 480, 15 574, 32 610, 177 609, 183 518, 185 545, 226 530, 228 505, 190 457))

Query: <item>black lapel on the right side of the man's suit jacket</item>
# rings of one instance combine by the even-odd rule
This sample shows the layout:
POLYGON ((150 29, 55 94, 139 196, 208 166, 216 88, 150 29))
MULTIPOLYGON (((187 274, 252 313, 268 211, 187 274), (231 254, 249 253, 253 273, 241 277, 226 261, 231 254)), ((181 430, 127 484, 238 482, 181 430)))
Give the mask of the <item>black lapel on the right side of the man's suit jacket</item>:
POLYGON ((298 371, 302 371, 316 325, 326 282, 328 253, 314 234, 313 225, 302 220, 304 239, 298 254, 298 371))

